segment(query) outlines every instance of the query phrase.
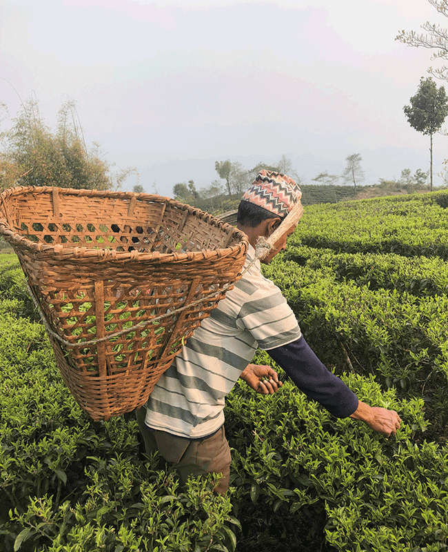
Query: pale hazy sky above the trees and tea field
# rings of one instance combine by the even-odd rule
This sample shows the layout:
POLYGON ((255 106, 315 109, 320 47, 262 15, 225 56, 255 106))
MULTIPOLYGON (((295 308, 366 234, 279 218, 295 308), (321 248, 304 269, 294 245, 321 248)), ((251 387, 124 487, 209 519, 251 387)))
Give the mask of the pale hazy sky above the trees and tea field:
MULTIPOLYGON (((53 126, 70 97, 86 141, 135 166, 147 192, 154 180, 163 195, 179 181, 206 186, 227 158, 252 168, 285 154, 309 182, 342 172, 352 153, 365 184, 429 168, 429 137, 403 106, 437 63, 394 40, 427 20, 448 26, 427 0, 1 0, 0 9, 10 115, 17 93, 35 95, 53 126)), ((436 171, 447 146, 436 135, 436 171)))

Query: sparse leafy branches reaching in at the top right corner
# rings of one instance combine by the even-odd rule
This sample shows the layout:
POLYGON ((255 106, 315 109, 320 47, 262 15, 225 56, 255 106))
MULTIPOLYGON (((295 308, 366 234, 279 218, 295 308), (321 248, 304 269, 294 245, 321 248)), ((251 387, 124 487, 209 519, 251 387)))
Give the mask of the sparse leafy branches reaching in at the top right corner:
MULTIPOLYGON (((448 2, 447 0, 428 0, 436 10, 448 17, 448 2)), ((427 34, 418 34, 414 30, 406 32, 402 30, 396 36, 396 40, 407 44, 407 46, 415 46, 416 48, 429 48, 435 50, 431 59, 448 59, 448 31, 441 28, 440 25, 434 25, 427 21, 421 28, 427 32, 427 34)), ((428 68, 428 72, 434 77, 439 79, 448 80, 448 67, 442 66, 440 68, 433 69, 428 68)))

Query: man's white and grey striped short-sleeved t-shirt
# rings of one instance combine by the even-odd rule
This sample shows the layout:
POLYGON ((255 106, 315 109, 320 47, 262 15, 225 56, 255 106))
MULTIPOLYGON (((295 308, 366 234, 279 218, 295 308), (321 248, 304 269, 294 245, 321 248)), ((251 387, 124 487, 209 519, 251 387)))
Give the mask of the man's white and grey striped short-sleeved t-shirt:
MULTIPOLYGON (((245 267, 252 263, 249 246, 245 267)), ((224 423, 225 395, 254 357, 301 337, 281 290, 256 261, 227 292, 163 373, 147 402, 150 428, 182 437, 214 433, 224 423)))

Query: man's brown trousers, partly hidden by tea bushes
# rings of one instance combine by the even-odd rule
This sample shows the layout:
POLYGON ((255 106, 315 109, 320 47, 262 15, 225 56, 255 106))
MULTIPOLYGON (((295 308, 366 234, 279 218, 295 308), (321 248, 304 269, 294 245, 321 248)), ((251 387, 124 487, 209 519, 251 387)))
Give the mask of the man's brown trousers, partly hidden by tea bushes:
POLYGON ((189 475, 201 473, 222 473, 221 480, 214 486, 215 493, 224 494, 230 482, 230 448, 225 438, 224 426, 210 437, 190 440, 172 435, 166 431, 151 431, 145 424, 146 408, 135 411, 137 422, 145 443, 147 454, 159 451, 185 485, 189 475))

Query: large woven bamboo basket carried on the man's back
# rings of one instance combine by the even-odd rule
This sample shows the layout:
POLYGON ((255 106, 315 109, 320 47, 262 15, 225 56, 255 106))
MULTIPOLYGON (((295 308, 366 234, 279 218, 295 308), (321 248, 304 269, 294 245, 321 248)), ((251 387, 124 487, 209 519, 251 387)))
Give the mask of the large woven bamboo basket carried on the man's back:
POLYGON ((5 190, 0 234, 94 420, 145 403, 247 251, 244 233, 167 197, 49 186, 5 190))

